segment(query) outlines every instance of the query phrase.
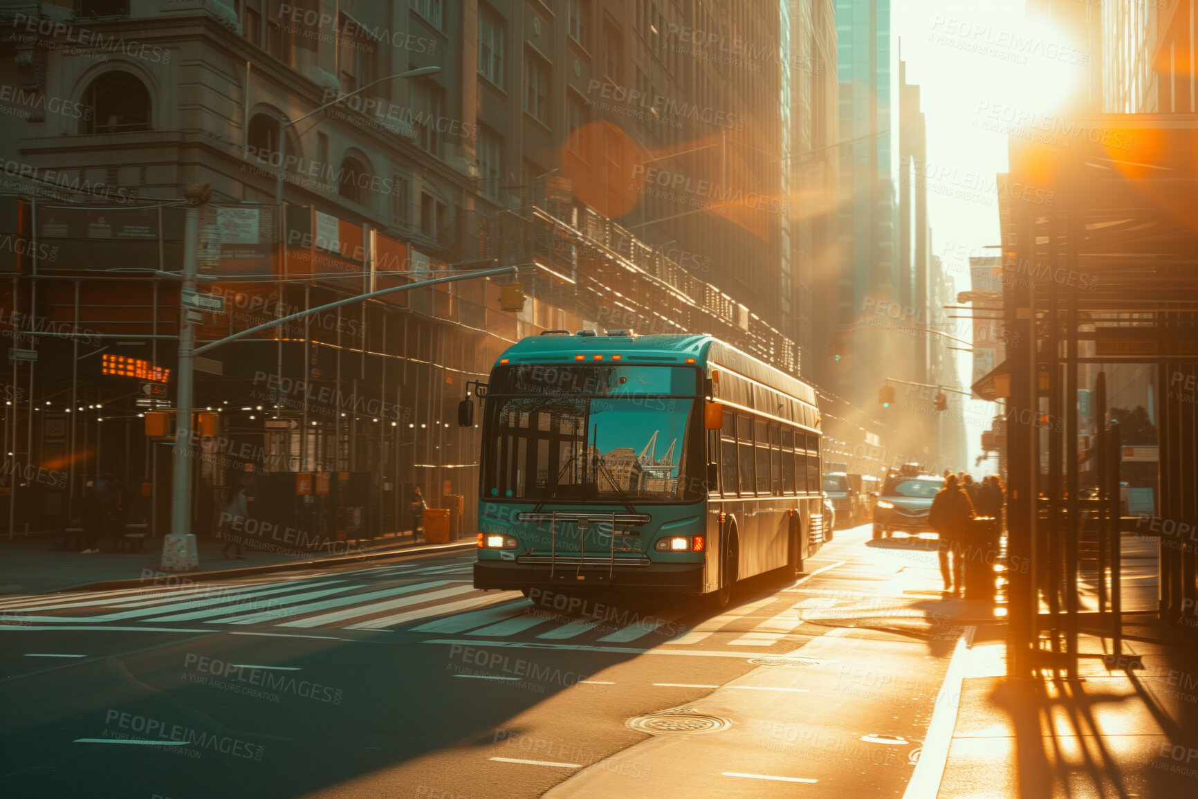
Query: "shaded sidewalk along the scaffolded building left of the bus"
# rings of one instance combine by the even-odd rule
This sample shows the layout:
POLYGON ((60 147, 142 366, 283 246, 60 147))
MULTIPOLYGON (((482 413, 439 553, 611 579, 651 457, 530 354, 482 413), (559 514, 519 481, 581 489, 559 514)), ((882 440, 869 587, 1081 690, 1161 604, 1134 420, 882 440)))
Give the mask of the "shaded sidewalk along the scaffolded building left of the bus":
MULTIPOLYGON (((41 594, 66 591, 92 583, 113 581, 138 581, 162 579, 158 570, 162 562, 162 540, 147 539, 141 552, 101 551, 80 555, 78 551, 58 551, 60 534, 47 533, 0 538, 0 595, 41 594)), ((102 545, 108 545, 102 541, 102 545)), ((424 544, 412 540, 411 533, 393 534, 371 541, 338 541, 331 553, 327 549, 315 552, 265 552, 242 549, 243 561, 226 561, 220 555, 224 541, 208 537, 196 537, 200 561, 199 571, 171 573, 170 577, 211 580, 218 576, 243 576, 261 571, 285 571, 314 565, 332 565, 337 562, 365 562, 370 558, 400 556, 422 551, 460 550, 474 546, 473 539, 459 539, 449 544, 424 544), (230 571, 237 574, 229 574, 230 571)), ((115 586, 114 586, 115 587, 115 586)))

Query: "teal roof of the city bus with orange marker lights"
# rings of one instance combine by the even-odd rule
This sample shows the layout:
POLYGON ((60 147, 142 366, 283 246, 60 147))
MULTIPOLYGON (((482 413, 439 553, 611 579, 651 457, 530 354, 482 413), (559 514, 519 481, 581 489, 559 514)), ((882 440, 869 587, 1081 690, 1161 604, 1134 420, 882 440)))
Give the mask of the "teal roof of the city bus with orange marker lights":
POLYGON ((527 335, 500 355, 496 363, 573 363, 575 356, 594 363, 594 356, 619 355, 628 365, 635 363, 688 364, 692 363, 710 374, 713 368, 728 369, 744 377, 756 380, 804 400, 816 404, 815 391, 791 375, 758 361, 746 352, 726 344, 707 333, 658 334, 658 335, 579 335, 555 333, 527 335))

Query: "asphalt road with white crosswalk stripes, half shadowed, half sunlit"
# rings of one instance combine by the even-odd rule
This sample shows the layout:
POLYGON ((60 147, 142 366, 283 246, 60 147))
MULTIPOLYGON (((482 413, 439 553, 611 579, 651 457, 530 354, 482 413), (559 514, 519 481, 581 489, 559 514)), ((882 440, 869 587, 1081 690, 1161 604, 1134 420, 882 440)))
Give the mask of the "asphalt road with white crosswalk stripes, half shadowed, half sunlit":
POLYGON ((473 552, 6 598, 0 794, 901 797, 960 603, 867 538, 724 611, 474 591, 473 552))

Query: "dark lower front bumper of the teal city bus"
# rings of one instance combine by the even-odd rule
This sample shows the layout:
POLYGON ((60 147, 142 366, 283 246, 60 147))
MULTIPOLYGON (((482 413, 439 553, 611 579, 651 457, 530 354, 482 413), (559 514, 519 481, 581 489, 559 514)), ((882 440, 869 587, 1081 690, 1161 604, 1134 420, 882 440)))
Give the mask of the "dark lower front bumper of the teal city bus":
POLYGON ((603 589, 615 592, 654 592, 673 594, 703 593, 702 563, 652 563, 628 565, 616 561, 591 563, 519 563, 515 561, 476 561, 474 587, 520 591, 544 588, 562 591, 603 589))

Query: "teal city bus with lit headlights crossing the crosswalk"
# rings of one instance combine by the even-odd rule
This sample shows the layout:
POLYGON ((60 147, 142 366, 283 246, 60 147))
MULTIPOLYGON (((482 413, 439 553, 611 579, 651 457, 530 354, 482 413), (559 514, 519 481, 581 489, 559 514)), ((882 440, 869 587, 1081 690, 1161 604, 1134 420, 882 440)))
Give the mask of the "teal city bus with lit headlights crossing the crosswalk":
POLYGON ((478 389, 477 588, 725 605, 824 541, 815 392, 710 335, 549 331, 478 389))

